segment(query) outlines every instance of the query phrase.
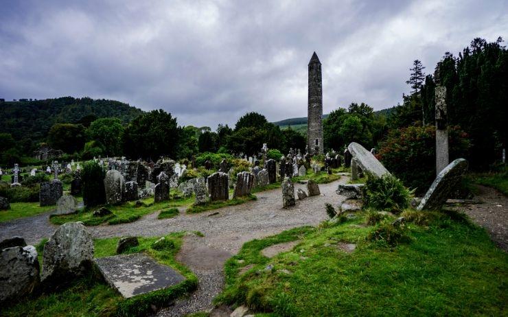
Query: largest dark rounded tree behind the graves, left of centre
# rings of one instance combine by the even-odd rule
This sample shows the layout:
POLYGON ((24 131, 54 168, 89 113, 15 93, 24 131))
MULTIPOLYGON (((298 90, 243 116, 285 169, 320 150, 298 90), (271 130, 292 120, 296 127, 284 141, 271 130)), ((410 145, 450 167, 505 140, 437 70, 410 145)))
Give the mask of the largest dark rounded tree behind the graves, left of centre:
POLYGON ((180 130, 176 118, 164 110, 152 110, 132 120, 124 132, 124 154, 130 158, 176 155, 180 130))

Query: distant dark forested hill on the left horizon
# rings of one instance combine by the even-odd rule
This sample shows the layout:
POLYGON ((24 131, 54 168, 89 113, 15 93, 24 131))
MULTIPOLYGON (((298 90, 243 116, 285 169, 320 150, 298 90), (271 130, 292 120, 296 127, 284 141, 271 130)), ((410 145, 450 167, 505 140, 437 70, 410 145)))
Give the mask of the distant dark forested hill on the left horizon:
POLYGON ((89 97, 0 101, 0 132, 16 140, 30 139, 33 144, 43 141, 54 124, 76 124, 86 117, 117 117, 127 123, 141 113, 143 110, 123 102, 89 97))

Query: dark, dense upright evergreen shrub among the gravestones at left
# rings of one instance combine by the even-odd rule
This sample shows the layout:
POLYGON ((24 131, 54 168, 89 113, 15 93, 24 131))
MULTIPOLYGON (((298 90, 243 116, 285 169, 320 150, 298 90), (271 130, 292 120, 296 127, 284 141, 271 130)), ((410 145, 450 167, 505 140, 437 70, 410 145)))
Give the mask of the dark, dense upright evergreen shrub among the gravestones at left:
POLYGON ((83 184, 83 202, 86 207, 95 207, 106 202, 104 176, 106 176, 106 173, 97 162, 87 161, 83 164, 81 181, 83 184))

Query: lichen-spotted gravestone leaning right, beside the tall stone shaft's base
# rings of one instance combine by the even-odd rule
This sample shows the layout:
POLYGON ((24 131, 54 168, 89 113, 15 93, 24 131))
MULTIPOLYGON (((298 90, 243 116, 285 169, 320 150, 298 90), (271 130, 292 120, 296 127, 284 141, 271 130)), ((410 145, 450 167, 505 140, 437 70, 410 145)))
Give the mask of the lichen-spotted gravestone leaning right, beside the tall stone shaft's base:
POLYGON ((461 181, 463 174, 467 171, 467 161, 464 158, 457 158, 448 164, 434 183, 430 185, 427 193, 417 207, 417 210, 438 210, 450 196, 450 193, 461 181))

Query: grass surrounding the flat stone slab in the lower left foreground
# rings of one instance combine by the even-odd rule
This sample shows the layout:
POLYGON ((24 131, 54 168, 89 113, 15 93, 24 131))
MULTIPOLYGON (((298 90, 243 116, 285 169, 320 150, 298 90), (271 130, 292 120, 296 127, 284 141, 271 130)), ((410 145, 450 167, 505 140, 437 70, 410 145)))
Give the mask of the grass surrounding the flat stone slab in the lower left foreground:
MULTIPOLYGON (((2 307, 2 316, 146 316, 152 312, 151 305, 162 307, 172 299, 194 290, 198 285, 197 277, 174 257, 181 248, 185 233, 172 233, 165 239, 172 241, 171 248, 154 250, 152 244, 159 237, 141 237, 139 246, 130 248, 126 253, 147 253, 160 263, 171 266, 186 278, 185 281, 157 290, 150 294, 124 299, 113 288, 98 278, 97 272, 78 279, 69 288, 60 292, 42 294, 28 298, 12 307, 2 307)), ((95 257, 115 255, 118 237, 96 239, 95 257)), ((39 246, 38 246, 39 247, 39 246)))

